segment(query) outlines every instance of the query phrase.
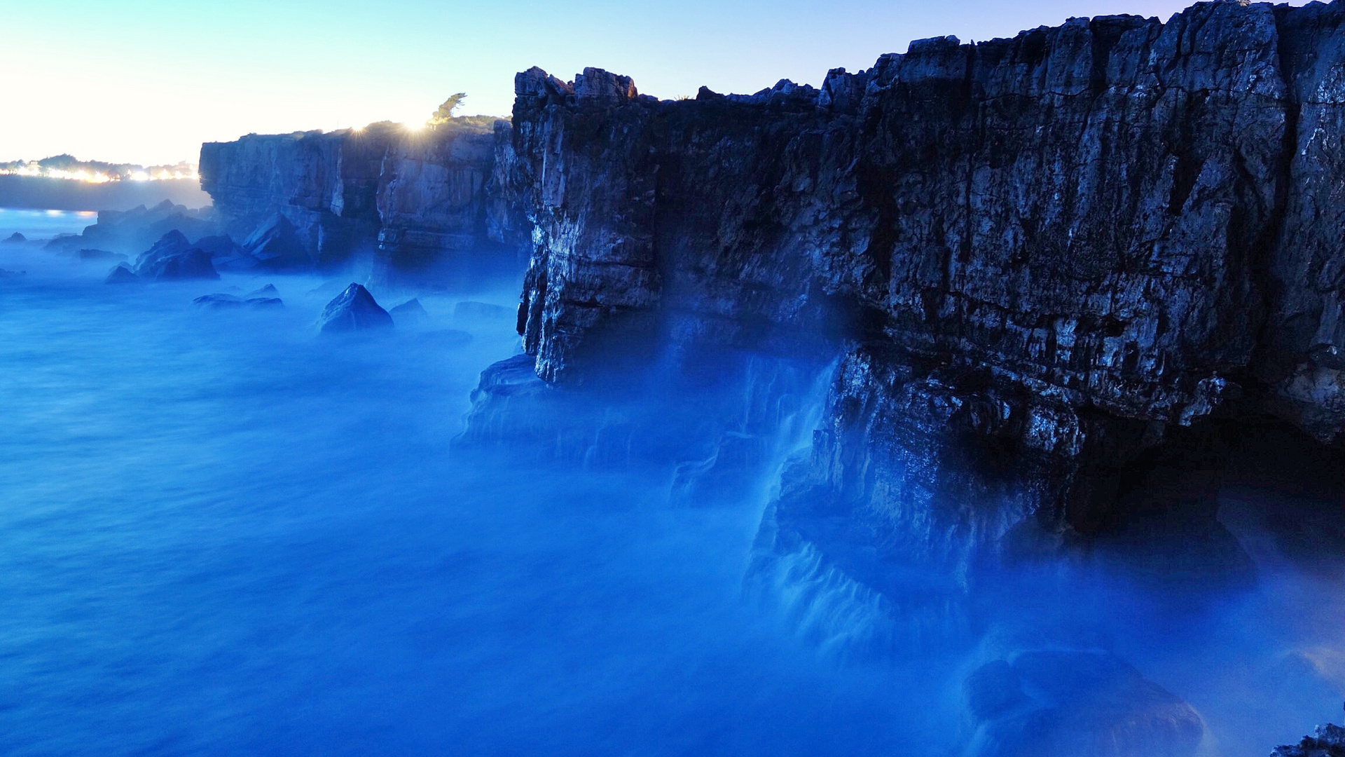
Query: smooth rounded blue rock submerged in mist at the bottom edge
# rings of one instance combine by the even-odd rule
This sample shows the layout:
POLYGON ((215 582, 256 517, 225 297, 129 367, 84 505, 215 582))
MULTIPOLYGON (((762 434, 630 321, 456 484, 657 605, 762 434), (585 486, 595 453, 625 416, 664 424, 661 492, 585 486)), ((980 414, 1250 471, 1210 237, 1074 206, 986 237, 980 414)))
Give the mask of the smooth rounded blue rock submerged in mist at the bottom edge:
POLYGON ((1205 730, 1189 704, 1099 652, 1022 652, 982 665, 963 691, 978 722, 968 754, 1185 757, 1205 730))

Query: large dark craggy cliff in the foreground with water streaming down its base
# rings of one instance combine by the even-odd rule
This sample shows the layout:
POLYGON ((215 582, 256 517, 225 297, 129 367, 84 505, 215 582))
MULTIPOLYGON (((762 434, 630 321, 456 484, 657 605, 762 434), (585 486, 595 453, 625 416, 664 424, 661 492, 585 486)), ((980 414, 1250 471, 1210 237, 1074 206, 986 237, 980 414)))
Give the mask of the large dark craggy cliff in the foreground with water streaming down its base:
POLYGON ((522 73, 527 352, 566 383, 612 346, 835 345, 772 532, 865 544, 854 574, 1142 516, 1217 541, 1245 423, 1345 430, 1342 19, 1072 19, 691 101, 522 73))

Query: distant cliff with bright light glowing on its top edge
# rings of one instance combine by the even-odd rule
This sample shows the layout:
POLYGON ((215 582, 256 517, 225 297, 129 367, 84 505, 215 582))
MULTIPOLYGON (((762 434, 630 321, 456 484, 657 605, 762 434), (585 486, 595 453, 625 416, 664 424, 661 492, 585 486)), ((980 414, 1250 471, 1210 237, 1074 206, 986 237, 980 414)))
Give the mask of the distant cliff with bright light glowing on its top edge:
POLYGON ((202 186, 229 233, 282 267, 374 257, 378 283, 452 283, 515 264, 518 233, 490 191, 508 124, 456 119, 424 132, 364 129, 249 135, 202 145, 202 186), (491 222, 494 220, 494 222, 491 222))

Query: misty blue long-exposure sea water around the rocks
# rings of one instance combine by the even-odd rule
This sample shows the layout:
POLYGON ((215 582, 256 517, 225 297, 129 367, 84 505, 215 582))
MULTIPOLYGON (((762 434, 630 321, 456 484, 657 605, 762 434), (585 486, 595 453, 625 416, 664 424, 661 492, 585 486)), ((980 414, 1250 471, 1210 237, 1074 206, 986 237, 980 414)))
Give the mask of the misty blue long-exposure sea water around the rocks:
MULTIPOLYGON (((0 211, 0 238, 87 222, 0 211)), ((516 282, 317 338, 350 277, 114 287, 108 265, 0 248, 23 271, 0 277, 0 753, 954 756, 962 678, 1006 634, 1124 659, 1200 711, 1202 754, 1338 722, 1340 575, 1259 531, 1278 494, 1229 496, 1251 586, 1038 566, 947 643, 838 651, 826 633, 862 618, 819 638, 745 581, 826 366, 798 368, 771 454, 689 490, 671 454, 455 443, 482 370, 519 352, 516 282), (191 306, 266 283, 282 311, 191 306)), ((732 415, 756 401, 742 376, 716 403, 650 401, 732 415)), ((694 428, 629 396, 568 401, 523 396, 502 423, 694 428)))

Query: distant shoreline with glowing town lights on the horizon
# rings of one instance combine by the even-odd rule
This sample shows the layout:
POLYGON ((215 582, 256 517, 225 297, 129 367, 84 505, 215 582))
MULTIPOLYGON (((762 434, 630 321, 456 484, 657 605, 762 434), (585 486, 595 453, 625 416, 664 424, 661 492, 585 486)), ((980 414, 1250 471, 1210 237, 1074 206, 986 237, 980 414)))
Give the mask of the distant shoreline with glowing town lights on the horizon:
POLYGON ((187 207, 210 205, 198 179, 90 183, 43 176, 0 175, 0 207, 31 210, 129 210, 164 199, 187 207))

